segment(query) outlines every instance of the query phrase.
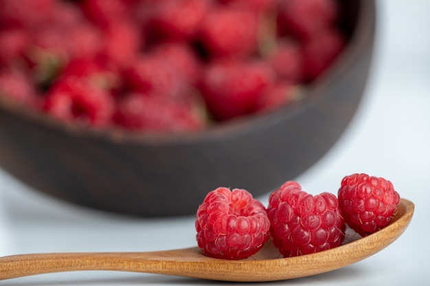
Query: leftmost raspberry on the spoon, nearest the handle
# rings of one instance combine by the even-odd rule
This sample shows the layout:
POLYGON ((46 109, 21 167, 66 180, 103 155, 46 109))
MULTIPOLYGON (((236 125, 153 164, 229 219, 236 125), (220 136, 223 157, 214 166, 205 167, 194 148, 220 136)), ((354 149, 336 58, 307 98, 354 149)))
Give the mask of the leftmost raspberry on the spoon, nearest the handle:
POLYGON ((219 187, 197 211, 196 239, 208 257, 250 257, 269 240, 269 228, 266 209, 244 189, 219 187))

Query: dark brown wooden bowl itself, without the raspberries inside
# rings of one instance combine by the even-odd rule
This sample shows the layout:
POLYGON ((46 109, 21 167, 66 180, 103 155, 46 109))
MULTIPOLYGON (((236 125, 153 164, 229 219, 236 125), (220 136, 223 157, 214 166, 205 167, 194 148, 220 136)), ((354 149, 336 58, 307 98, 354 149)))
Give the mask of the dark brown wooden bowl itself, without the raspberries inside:
POLYGON ((350 41, 304 100, 196 134, 91 131, 0 104, 0 164, 56 198, 129 215, 185 215, 216 187, 267 193, 313 165, 359 106, 374 1, 342 1, 350 41))

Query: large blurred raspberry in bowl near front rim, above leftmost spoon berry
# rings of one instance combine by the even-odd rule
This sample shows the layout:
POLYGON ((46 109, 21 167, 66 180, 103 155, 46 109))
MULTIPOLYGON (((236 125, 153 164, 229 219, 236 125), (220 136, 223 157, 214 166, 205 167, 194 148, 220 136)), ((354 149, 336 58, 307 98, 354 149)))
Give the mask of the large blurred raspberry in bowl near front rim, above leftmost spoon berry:
POLYGON ((275 82, 275 73, 263 62, 215 62, 205 70, 199 87, 216 120, 254 112, 262 92, 275 82))

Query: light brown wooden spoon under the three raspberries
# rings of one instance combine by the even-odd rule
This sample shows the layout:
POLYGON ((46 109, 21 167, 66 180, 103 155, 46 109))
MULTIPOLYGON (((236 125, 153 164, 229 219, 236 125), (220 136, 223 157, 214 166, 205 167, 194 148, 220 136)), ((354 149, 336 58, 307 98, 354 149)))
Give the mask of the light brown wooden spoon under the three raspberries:
POLYGON ((20 254, 0 258, 0 279, 78 270, 168 274, 218 281, 279 281, 320 274, 361 261, 387 247, 407 228, 414 203, 401 199, 392 222, 382 230, 343 245, 300 257, 280 258, 267 243, 246 260, 205 257, 199 248, 157 252, 20 254))

